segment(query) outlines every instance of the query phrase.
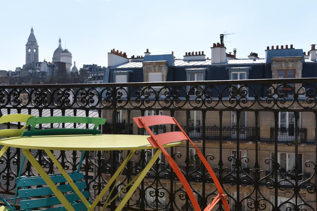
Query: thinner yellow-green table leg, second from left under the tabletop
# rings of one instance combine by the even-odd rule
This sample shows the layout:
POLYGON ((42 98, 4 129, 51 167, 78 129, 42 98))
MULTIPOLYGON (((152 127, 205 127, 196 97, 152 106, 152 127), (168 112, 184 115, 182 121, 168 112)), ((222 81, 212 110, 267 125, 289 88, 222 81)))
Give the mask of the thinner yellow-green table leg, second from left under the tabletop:
POLYGON ((45 152, 49 156, 49 158, 53 161, 53 163, 56 165, 56 167, 61 172, 61 174, 64 176, 68 184, 73 188, 77 196, 81 199, 81 202, 83 202, 85 206, 89 208, 90 207, 89 202, 87 201, 85 196, 81 193, 81 191, 78 189, 78 187, 74 184, 74 181, 69 177, 68 173, 65 171, 65 169, 63 169, 60 162, 55 158, 53 153, 48 149, 45 149, 45 152))

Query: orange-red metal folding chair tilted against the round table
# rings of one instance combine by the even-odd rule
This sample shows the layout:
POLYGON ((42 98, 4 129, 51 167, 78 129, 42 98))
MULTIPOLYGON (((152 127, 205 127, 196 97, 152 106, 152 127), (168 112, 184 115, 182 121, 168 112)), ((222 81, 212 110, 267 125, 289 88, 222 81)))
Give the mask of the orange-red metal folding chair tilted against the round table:
POLYGON ((172 169, 176 173, 177 177, 179 178, 179 181, 183 184, 184 189, 191 200, 191 203, 195 209, 195 211, 201 211, 199 204, 197 202, 197 199, 193 193, 193 190, 191 189, 190 185, 188 184, 187 180, 185 179, 183 173, 178 168, 175 161, 172 159, 172 157, 167 153, 167 151, 164 149, 163 145, 171 142, 176 142, 180 140, 188 140, 193 147, 196 149, 196 152, 200 158, 200 160, 203 162, 204 166, 206 167, 207 171, 209 172, 212 180, 214 181, 217 190, 218 195, 212 200, 212 202, 204 209, 204 211, 211 211, 217 203, 221 200, 224 206, 225 211, 230 211, 228 202, 227 202, 227 195, 224 194, 223 189, 221 187, 221 184, 219 183, 217 176, 215 175, 214 171, 208 164, 208 161, 205 159, 204 155, 199 151, 199 149, 194 145, 194 143, 191 141, 191 139, 187 136, 185 131, 181 128, 181 126, 178 124, 178 122, 173 117, 169 116, 146 116, 146 117, 135 117, 133 118, 133 121, 139 128, 145 128, 146 131, 151 135, 151 137, 148 137, 147 140, 150 142, 152 147, 159 148, 162 153, 164 154, 166 160, 171 165, 172 169), (152 130, 149 128, 153 125, 159 125, 159 124, 176 124, 178 128, 181 131, 174 131, 174 132, 167 132, 162 133, 159 135, 154 135, 152 130))

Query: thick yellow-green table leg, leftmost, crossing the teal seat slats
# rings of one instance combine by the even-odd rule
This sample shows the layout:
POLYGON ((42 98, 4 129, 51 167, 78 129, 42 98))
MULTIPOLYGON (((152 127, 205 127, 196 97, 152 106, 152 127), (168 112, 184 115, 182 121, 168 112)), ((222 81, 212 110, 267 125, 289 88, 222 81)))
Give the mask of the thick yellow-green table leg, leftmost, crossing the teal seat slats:
POLYGON ((34 166, 37 172, 42 176, 43 180, 46 182, 46 184, 49 186, 49 188, 53 191, 55 196, 60 200, 62 205, 67 209, 71 211, 75 211, 73 206, 68 202, 66 197, 63 195, 63 193, 57 188, 55 183, 52 181, 51 178, 49 178, 49 175, 44 171, 42 166, 39 164, 39 162, 33 157, 32 153, 29 149, 23 149, 23 154, 25 157, 30 161, 30 163, 34 166))

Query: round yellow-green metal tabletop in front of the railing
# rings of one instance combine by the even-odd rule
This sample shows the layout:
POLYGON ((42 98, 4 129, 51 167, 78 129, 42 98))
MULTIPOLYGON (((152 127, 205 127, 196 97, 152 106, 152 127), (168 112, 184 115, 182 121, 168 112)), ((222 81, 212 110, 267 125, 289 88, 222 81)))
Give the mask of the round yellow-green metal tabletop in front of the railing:
MULTIPOLYGON (((146 139, 149 136, 141 135, 58 135, 58 136, 22 136, 0 139, 0 145, 49 150, 133 150, 152 149, 146 139)), ((177 146, 181 141, 165 144, 164 147, 177 146)))

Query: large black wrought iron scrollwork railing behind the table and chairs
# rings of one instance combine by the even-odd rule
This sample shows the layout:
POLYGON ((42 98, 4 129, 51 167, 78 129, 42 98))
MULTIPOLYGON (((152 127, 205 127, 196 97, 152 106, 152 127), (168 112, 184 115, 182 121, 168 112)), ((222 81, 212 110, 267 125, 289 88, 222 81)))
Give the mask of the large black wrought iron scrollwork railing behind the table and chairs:
MULTIPOLYGON (((271 138, 272 143, 267 144, 264 149, 262 149, 262 145, 261 148, 259 147, 259 128, 261 127, 262 131, 262 120, 270 118, 266 122, 269 125, 267 125, 267 131, 265 132, 269 139, 270 127, 274 127, 275 131, 279 129, 279 112, 294 112, 294 128, 299 134, 303 133, 298 130, 299 113, 314 116, 310 120, 302 118, 301 125, 305 127, 305 124, 310 124, 309 127, 307 126, 307 136, 314 136, 313 139, 316 141, 314 135, 316 134, 314 130, 316 130, 317 118, 316 81, 316 78, 298 78, 8 85, 0 86, 0 115, 24 112, 38 116, 77 116, 79 113, 89 116, 93 110, 97 113, 96 116, 111 119, 104 125, 104 133, 138 133, 141 135, 145 134, 143 129, 138 130, 138 132, 136 132, 136 129, 133 131, 132 118, 145 116, 148 111, 155 114, 164 112, 164 115, 176 117, 178 121, 182 119, 183 122, 181 123, 184 125, 185 132, 193 138, 195 136, 199 137, 199 148, 211 162, 212 167, 216 166, 214 170, 228 194, 231 208, 236 208, 238 211, 245 207, 248 210, 280 210, 282 206, 287 205, 293 207, 294 210, 316 211, 316 142, 302 144, 299 142, 299 140, 303 142, 302 135, 295 135, 294 142, 288 142, 281 146, 279 134, 274 133, 271 138), (294 84, 294 86, 290 87, 288 84, 294 84), (102 87, 102 89, 99 89, 99 87, 102 87), (147 91, 149 87, 162 88, 158 91, 154 89, 154 92, 149 92, 147 91), (287 90, 285 87, 287 87, 287 90), (21 101, 21 96, 23 96, 23 101, 21 101), (27 96, 25 100, 24 96, 27 96), (118 111, 126 112, 126 122, 119 126, 116 123, 118 111), (192 118, 192 111, 201 113, 199 127, 191 126, 189 120, 192 118), (212 118, 209 116, 211 112, 213 112, 212 118), (228 112, 235 112, 236 128, 223 126, 224 121, 227 121, 225 123, 227 124, 230 120, 227 115, 228 112), (248 112, 248 125, 249 120, 252 120, 253 127, 244 128, 240 125, 242 112, 248 112), (103 116, 108 114, 110 114, 110 118, 103 116), (251 116, 253 118, 250 118, 251 116), (206 124, 219 126, 209 128, 206 124), (208 137, 217 141, 207 142, 208 137), (229 143, 230 145, 224 143, 224 140, 229 138, 232 138, 235 142, 229 143), (254 142, 252 144, 242 142, 242 140, 248 139, 252 139, 254 142), (242 150, 248 150, 248 154, 244 154, 242 150), (291 177, 286 175, 287 179, 285 179, 285 175, 278 176, 280 175, 281 162, 285 164, 285 160, 279 159, 278 153, 285 153, 286 150, 294 153, 295 157, 298 156, 299 151, 302 154, 303 151, 307 151, 302 156, 301 165, 305 170, 304 172, 310 173, 309 177, 304 176, 306 186, 301 182, 303 175, 298 173, 299 171, 295 171, 297 173, 294 173, 291 177), (233 153, 233 151, 235 152, 233 153), (271 157, 271 154, 275 156, 271 157), (248 163, 248 166, 252 166, 252 169, 245 169, 244 163, 248 163), (234 170, 228 170, 232 166, 234 166, 234 170), (265 176, 267 169, 272 169, 270 172, 273 173, 265 176), (291 183, 283 185, 287 180, 291 183), (285 196, 283 199, 286 198, 286 200, 281 202, 280 196, 285 196), (295 198, 301 198, 301 202, 295 201, 295 198), (290 202, 293 204, 290 204, 290 202)), ((6 127, 21 128, 21 124, 7 124, 6 127)), ((39 127, 42 126, 39 125, 39 127)), ((99 129, 101 129, 101 126, 99 129)), ((175 130, 175 128, 166 126, 164 129, 157 127, 153 130, 169 132, 175 130)), ((202 208, 206 207, 211 198, 216 196, 216 189, 209 180, 210 177, 206 170, 204 167, 199 167, 199 170, 190 167, 194 159, 192 159, 191 149, 186 142, 169 150, 178 165, 183 166, 182 170, 185 176, 189 178, 202 208), (197 176, 199 176, 199 180, 197 180, 197 176)), ((56 172, 52 161, 41 150, 32 150, 32 153, 35 154, 36 159, 48 172, 56 172)), ((77 169, 80 157, 79 151, 54 151, 54 154, 57 155, 61 165, 65 166, 66 169, 77 169)), ((92 201, 96 193, 99 193, 107 183, 107 178, 113 175, 117 166, 125 158, 123 155, 124 153, 120 151, 87 153, 81 170, 85 174, 85 182, 90 187, 90 199, 92 201)), ((116 184, 116 191, 121 186, 129 183, 132 177, 144 168, 148 155, 149 151, 146 150, 139 150, 135 153, 133 160, 129 162, 124 175, 120 178, 120 183, 116 184)), ((8 149, 1 158, 0 189, 2 194, 13 194, 17 175, 16 169, 20 168, 21 158, 21 150, 14 148, 8 149)), ((299 161, 295 159, 292 162, 298 168, 299 161)), ((196 163, 194 164, 196 165, 196 163)), ((142 181, 138 190, 126 204, 126 210, 191 210, 191 204, 184 189, 179 185, 178 178, 175 178, 174 173, 170 171, 170 166, 165 167, 166 170, 162 170, 162 172, 166 171, 165 173, 157 171, 156 166, 152 167, 149 176, 142 181), (151 197, 146 195, 149 192, 151 192, 151 197), (156 203, 158 200, 162 203, 156 203)), ((36 175, 30 163, 23 166, 22 175, 36 175)), ((113 191, 113 196, 116 195, 116 191, 113 191)), ((117 200, 120 200, 120 198, 117 200)), ((115 209, 117 200, 111 203, 111 210, 115 209)), ((223 210, 221 205, 216 209, 223 210)))

